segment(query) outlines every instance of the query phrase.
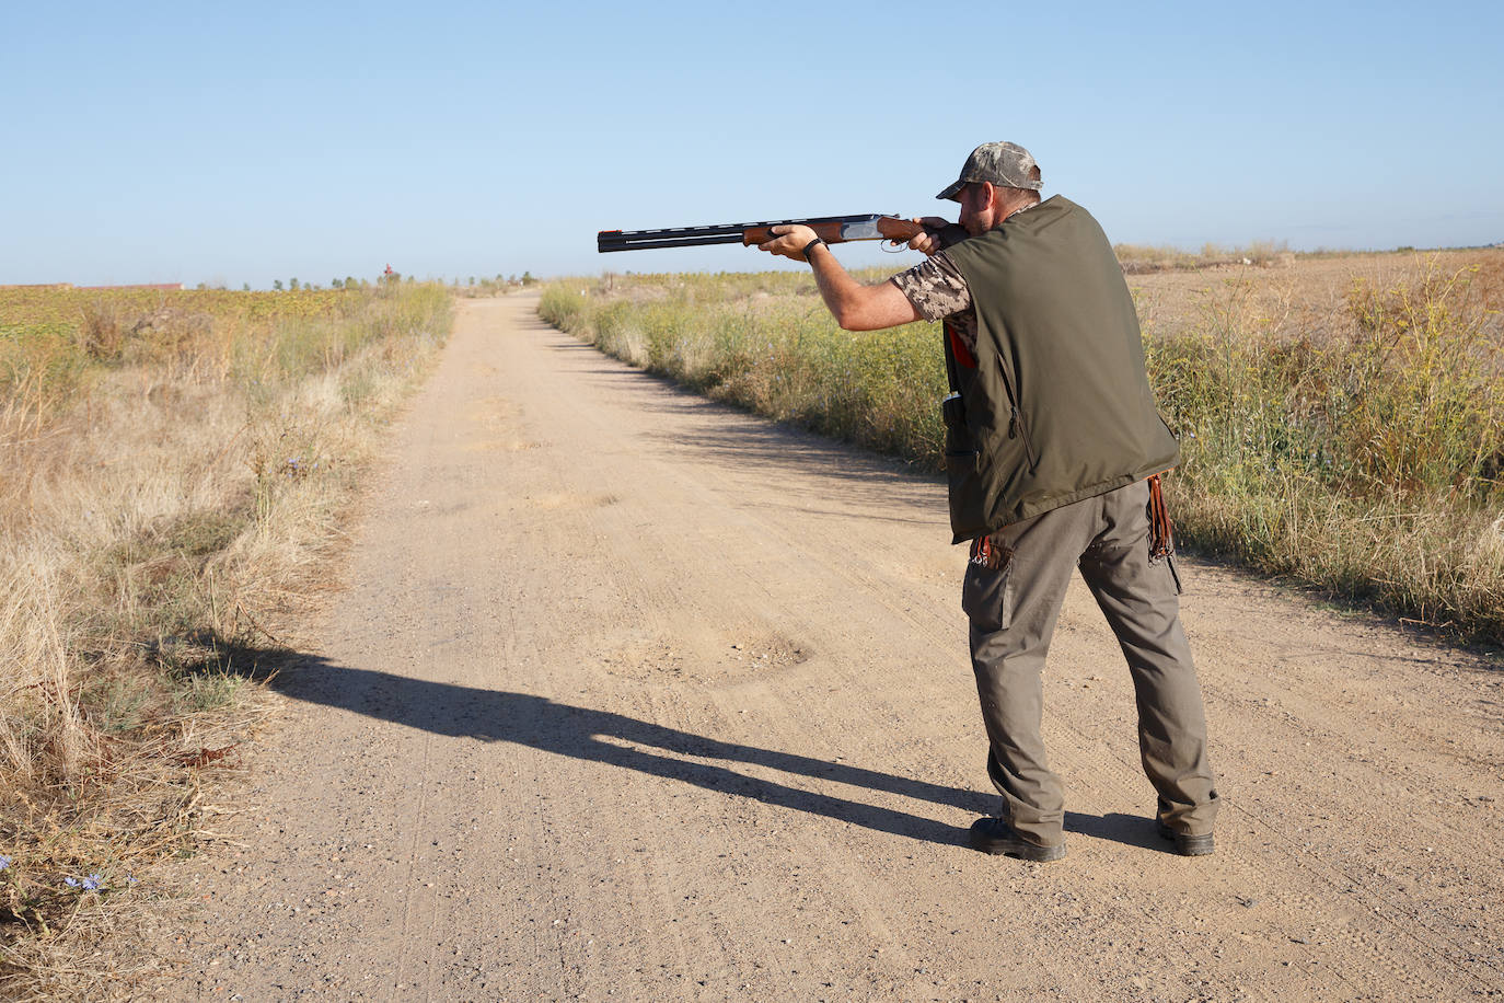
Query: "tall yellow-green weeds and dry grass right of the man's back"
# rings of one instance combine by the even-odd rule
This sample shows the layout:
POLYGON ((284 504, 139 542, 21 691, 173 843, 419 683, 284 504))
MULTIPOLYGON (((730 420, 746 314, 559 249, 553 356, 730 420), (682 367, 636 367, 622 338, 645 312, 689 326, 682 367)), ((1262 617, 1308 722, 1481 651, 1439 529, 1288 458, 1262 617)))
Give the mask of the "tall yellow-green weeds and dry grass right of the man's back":
MULTIPOLYGON (((1463 638, 1504 642, 1504 256, 1423 257, 1324 289, 1321 323, 1226 283, 1148 343, 1199 549, 1463 638)), ((1334 277, 1342 281, 1340 277, 1334 277)), ((1287 298, 1287 295, 1286 295, 1287 298)))

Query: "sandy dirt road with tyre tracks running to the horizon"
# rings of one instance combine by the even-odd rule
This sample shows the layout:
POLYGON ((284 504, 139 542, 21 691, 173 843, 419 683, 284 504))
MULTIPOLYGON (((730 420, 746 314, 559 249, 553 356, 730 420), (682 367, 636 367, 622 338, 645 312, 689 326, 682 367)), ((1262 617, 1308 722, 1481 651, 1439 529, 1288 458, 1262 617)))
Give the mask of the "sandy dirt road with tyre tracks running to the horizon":
POLYGON ((534 305, 468 302, 397 429, 177 997, 1504 995, 1499 665, 1188 564, 1226 808, 1182 859, 1075 588, 1069 854, 985 857, 943 487, 534 305))

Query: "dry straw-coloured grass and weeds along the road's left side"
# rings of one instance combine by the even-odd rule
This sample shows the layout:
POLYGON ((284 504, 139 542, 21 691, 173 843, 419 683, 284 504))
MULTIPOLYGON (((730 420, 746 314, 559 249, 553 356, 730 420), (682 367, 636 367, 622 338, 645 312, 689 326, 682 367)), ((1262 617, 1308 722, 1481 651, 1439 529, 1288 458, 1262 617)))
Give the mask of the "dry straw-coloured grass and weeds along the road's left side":
POLYGON ((233 812, 250 680, 450 329, 442 286, 341 284, 0 289, 0 997, 126 992, 105 934, 233 812))

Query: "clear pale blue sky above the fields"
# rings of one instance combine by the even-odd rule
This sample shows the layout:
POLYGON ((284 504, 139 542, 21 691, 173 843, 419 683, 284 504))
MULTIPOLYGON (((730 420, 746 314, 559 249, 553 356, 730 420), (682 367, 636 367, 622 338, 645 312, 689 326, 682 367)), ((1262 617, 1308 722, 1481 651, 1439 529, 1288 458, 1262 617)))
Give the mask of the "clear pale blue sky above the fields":
POLYGON ((15 3, 0 283, 769 268, 594 235, 954 215, 1000 138, 1113 241, 1492 244, 1501 51, 1496 0, 15 3))

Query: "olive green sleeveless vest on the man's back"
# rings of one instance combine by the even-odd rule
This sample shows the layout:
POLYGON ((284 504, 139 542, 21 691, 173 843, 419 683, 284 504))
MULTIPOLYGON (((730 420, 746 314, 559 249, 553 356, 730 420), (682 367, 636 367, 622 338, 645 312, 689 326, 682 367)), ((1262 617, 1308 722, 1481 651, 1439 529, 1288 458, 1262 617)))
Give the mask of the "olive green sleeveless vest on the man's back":
POLYGON ((1122 268, 1086 209, 1054 195, 946 256, 976 308, 976 365, 952 359, 955 543, 1179 463, 1122 268))

